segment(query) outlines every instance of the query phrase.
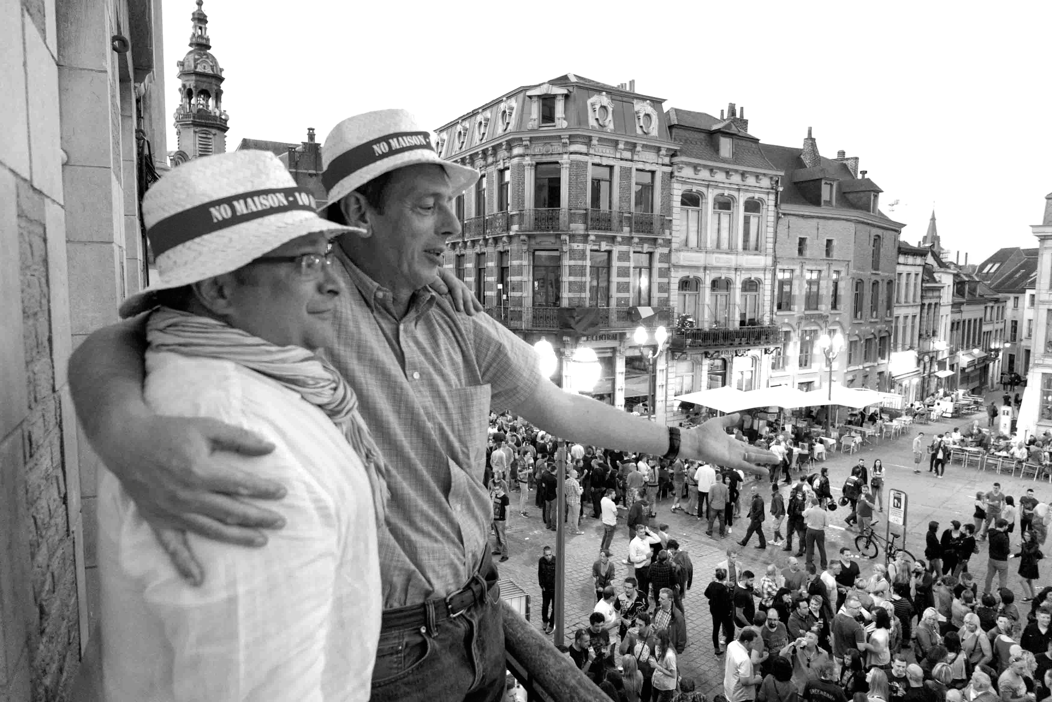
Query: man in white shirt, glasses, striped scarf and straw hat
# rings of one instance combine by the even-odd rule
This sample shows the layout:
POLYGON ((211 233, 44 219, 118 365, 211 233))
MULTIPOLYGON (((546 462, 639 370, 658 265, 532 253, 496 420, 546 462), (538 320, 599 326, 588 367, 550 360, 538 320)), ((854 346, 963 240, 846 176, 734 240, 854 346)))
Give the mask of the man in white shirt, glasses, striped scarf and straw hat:
POLYGON ((209 577, 171 567, 106 468, 98 474, 105 699, 366 700, 382 601, 384 467, 332 344, 329 239, 348 232, 272 154, 165 175, 142 203, 159 281, 121 305, 145 322, 144 400, 160 415, 251 430, 275 450, 227 465, 278 480, 289 528, 265 548, 197 535, 209 577))

